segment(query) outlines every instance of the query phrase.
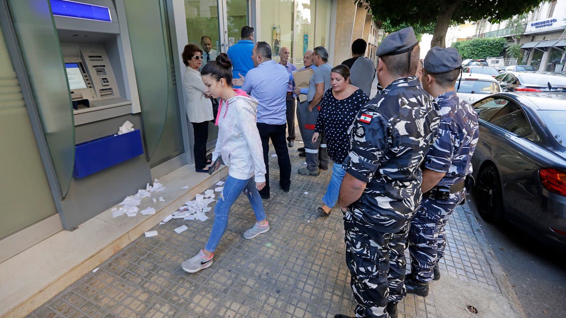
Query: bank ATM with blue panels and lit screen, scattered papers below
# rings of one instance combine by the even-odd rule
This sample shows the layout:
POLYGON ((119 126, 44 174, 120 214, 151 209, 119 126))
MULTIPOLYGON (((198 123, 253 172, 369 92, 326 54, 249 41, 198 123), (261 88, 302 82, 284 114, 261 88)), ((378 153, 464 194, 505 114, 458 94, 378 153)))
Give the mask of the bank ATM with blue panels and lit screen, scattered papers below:
POLYGON ((151 182, 122 0, 49 0, 75 124, 63 227, 79 224, 151 182), (129 121, 134 131, 118 135, 129 121))

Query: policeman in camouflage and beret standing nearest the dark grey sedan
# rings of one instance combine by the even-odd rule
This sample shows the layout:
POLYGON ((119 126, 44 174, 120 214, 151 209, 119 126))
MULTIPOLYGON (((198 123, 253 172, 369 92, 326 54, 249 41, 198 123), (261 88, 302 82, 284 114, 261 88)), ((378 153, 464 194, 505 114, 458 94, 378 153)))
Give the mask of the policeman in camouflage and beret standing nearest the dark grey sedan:
POLYGON ((421 207, 409 231, 411 273, 405 286, 408 293, 421 296, 428 295, 428 281, 440 279, 444 227, 465 199, 465 178, 471 174, 471 156, 478 142, 478 114, 454 91, 461 65, 454 48, 436 46, 424 58, 423 88, 435 97, 441 115, 438 138, 424 159, 421 207))

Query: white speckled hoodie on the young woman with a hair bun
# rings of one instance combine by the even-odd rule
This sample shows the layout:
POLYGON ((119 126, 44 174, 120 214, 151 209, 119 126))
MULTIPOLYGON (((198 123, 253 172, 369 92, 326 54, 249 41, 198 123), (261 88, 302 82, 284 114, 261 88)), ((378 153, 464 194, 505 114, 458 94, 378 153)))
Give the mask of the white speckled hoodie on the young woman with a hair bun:
POLYGON ((263 148, 256 125, 257 106, 255 98, 242 94, 222 101, 212 161, 222 156, 231 177, 239 180, 254 177, 255 182, 265 182, 263 148))

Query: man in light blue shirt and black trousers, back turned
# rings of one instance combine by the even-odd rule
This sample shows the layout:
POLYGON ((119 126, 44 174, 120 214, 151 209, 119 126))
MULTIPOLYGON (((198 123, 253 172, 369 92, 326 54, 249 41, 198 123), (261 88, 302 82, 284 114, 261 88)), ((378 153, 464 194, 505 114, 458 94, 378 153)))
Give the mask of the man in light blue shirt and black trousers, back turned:
POLYGON ((289 192, 291 185, 291 161, 285 140, 287 127, 286 102, 289 73, 287 69, 271 59, 271 47, 267 42, 258 42, 251 55, 255 68, 247 72, 242 90, 258 100, 258 131, 263 146, 265 161, 265 187, 259 191, 263 199, 269 199, 269 139, 273 143, 281 186, 289 192))

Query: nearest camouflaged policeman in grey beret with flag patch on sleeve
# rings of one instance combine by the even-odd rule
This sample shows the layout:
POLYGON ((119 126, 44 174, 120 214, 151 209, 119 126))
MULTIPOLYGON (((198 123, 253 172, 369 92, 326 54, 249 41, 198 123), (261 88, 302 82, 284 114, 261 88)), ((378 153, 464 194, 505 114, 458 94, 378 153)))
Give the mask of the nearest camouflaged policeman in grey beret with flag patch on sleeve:
POLYGON ((410 27, 381 42, 377 72, 385 88, 349 128, 338 203, 356 317, 397 317, 406 294, 404 250, 422 196, 420 165, 439 125, 438 105, 414 76, 419 50, 410 27))

